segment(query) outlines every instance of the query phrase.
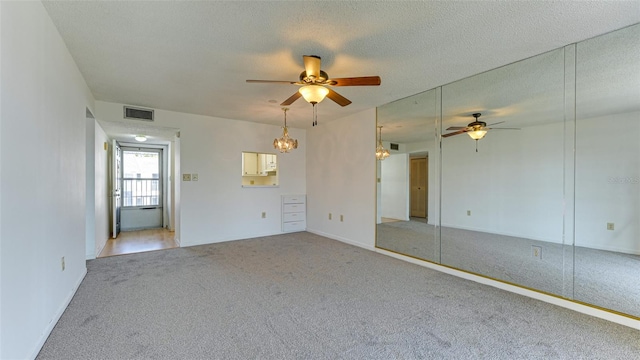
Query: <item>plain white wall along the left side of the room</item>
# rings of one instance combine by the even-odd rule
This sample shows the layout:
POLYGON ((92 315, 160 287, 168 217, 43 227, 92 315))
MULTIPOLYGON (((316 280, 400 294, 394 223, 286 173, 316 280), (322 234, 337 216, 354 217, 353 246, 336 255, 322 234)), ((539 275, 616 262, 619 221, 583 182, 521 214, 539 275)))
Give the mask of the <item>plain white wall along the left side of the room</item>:
POLYGON ((0 358, 23 359, 35 357, 86 273, 93 98, 40 2, 0 9, 0 358))

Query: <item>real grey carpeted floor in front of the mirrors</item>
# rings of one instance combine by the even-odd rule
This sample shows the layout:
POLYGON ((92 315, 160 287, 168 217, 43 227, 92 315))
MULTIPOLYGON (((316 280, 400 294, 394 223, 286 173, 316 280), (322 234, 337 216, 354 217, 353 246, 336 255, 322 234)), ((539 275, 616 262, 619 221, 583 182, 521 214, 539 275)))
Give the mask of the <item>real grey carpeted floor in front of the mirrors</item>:
POLYGON ((101 258, 38 359, 637 359, 640 332, 310 233, 101 258))

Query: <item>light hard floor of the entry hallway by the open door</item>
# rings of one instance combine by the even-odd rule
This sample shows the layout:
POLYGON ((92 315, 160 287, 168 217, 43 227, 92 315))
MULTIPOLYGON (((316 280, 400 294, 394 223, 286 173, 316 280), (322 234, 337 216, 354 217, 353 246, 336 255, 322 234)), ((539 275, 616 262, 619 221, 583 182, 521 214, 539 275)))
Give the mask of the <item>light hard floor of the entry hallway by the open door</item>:
POLYGON ((98 257, 173 249, 176 247, 178 247, 178 244, 175 241, 175 233, 167 229, 123 231, 116 239, 107 241, 98 257))

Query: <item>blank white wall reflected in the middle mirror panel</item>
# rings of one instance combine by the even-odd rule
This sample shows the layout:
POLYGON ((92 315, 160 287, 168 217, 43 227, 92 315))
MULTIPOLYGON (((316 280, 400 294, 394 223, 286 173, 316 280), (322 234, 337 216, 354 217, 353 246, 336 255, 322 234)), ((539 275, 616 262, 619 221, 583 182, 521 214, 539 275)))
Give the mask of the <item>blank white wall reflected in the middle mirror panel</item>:
POLYGON ((489 132, 477 153, 468 136, 444 139, 442 226, 561 243, 563 134, 562 123, 489 132))

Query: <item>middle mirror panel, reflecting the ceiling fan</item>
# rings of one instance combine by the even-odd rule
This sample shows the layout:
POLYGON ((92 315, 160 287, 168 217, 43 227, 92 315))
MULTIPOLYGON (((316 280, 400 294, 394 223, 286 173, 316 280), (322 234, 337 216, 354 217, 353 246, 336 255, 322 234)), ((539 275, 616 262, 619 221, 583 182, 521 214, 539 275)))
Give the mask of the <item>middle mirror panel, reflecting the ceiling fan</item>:
POLYGON ((443 265, 567 295, 564 66, 558 49, 442 87, 443 136, 489 128, 442 139, 443 265))

